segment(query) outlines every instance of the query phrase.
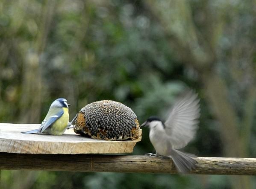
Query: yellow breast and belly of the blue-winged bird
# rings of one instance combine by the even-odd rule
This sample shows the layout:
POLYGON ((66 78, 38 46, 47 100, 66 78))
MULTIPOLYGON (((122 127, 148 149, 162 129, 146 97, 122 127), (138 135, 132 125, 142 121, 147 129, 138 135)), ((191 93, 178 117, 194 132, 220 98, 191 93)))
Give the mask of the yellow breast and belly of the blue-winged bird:
POLYGON ((49 129, 49 134, 62 135, 68 127, 69 113, 68 108, 62 108, 64 111, 63 115, 53 123, 49 129))

